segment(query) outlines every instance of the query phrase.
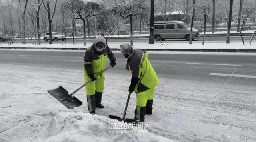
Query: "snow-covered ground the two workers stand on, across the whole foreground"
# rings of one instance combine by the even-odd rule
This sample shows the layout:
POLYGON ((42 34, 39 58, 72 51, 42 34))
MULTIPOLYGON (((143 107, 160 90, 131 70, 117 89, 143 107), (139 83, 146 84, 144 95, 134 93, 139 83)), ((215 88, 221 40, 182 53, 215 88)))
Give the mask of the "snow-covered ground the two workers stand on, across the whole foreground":
MULTIPOLYGON (((182 142, 256 141, 254 84, 231 86, 211 80, 180 79, 174 74, 158 76, 160 84, 154 96, 154 114, 146 115, 152 129, 144 134, 140 134, 140 130, 134 134, 117 134, 108 128, 109 123, 117 121, 107 116, 122 115, 128 96, 129 72, 114 69, 106 72, 102 98, 105 108, 96 109, 97 115, 90 115, 84 89, 75 94, 83 105, 74 110, 66 109, 46 91, 58 85, 74 91, 83 84, 82 68, 0 63, 0 138, 15 142, 167 142, 160 137, 163 136, 182 142)), ((135 106, 136 95, 132 93, 128 118, 134 117, 135 106)))

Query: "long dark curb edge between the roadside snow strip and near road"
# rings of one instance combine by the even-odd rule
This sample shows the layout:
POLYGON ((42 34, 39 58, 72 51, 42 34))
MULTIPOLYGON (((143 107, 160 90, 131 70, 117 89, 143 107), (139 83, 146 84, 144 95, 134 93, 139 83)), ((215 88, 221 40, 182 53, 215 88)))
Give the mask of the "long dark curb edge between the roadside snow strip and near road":
MULTIPOLYGON (((0 47, 0 49, 46 49, 46 50, 85 50, 86 48, 53 48, 53 47, 0 47)), ((112 49, 119 51, 120 49, 112 49)), ((194 52, 250 52, 255 53, 256 49, 143 49, 144 51, 194 51, 194 52)))

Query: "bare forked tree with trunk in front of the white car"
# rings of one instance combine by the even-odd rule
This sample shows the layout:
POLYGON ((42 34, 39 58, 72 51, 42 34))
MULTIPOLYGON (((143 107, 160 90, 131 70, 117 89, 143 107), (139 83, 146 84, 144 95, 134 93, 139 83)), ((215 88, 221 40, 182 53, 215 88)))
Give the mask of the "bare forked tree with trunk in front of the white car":
POLYGON ((46 6, 44 5, 44 2, 43 2, 43 5, 44 5, 44 8, 45 10, 47 11, 47 15, 48 15, 48 21, 49 21, 49 39, 50 39, 50 42, 49 44, 51 45, 52 44, 52 19, 53 19, 53 16, 55 14, 55 11, 56 11, 56 4, 57 4, 57 0, 55 1, 55 4, 54 4, 54 10, 52 12, 52 16, 50 16, 50 0, 47 0, 47 3, 46 3, 46 6))

